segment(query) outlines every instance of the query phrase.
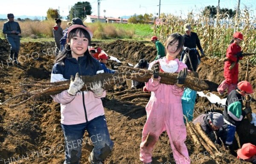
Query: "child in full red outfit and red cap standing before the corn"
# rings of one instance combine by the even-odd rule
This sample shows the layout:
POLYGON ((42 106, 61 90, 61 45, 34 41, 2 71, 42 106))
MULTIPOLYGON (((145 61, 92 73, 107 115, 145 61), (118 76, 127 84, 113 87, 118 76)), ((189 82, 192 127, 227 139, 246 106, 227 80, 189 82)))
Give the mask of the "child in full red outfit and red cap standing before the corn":
POLYGON ((227 94, 231 90, 236 89, 238 83, 238 61, 243 58, 240 43, 243 40, 243 35, 240 32, 233 34, 234 39, 227 48, 226 57, 228 61, 224 63, 224 77, 225 80, 221 82, 218 87, 218 93, 222 96, 224 91, 227 89, 227 94), (231 64, 235 62, 235 66, 230 69, 231 64))

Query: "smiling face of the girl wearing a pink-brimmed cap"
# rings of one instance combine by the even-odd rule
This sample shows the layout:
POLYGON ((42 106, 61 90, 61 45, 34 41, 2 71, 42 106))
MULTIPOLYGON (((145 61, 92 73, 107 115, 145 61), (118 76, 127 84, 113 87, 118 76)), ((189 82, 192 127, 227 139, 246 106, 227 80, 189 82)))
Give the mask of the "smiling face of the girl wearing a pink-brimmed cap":
MULTIPOLYGON (((80 33, 81 34, 81 33, 80 33)), ((74 35, 70 40, 71 54, 73 58, 83 57, 87 51, 89 40, 85 36, 79 35, 79 32, 74 35)))

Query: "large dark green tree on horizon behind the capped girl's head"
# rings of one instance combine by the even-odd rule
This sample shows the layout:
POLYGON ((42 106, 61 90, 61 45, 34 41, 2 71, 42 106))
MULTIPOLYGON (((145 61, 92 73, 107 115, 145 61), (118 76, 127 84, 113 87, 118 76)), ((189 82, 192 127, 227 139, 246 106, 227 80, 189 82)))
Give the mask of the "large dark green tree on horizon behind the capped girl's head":
POLYGON ((78 2, 70 8, 70 19, 79 17, 84 19, 86 15, 92 14, 90 2, 78 2))

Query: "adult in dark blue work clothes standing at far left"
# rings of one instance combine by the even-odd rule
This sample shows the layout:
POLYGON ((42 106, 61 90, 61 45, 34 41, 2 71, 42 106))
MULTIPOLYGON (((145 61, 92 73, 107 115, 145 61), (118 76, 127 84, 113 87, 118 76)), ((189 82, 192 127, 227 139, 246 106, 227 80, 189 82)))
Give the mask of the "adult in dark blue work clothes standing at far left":
POLYGON ((20 51, 20 25, 14 21, 13 14, 7 14, 7 18, 8 21, 3 24, 3 34, 6 34, 6 39, 11 45, 10 59, 16 60, 17 64, 19 64, 17 59, 20 51))

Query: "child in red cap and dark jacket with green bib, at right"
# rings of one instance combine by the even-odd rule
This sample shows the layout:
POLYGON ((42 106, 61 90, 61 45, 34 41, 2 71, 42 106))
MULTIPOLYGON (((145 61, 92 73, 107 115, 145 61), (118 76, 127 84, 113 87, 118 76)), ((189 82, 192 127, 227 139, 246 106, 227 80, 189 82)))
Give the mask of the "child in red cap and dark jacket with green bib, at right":
POLYGON ((253 93, 252 85, 247 81, 241 81, 237 84, 236 90, 232 90, 227 96, 226 106, 223 112, 225 122, 223 128, 225 130, 225 144, 227 149, 230 149, 233 144, 236 127, 241 124, 245 115, 251 112, 250 108, 242 110, 242 96, 251 93, 253 93))

